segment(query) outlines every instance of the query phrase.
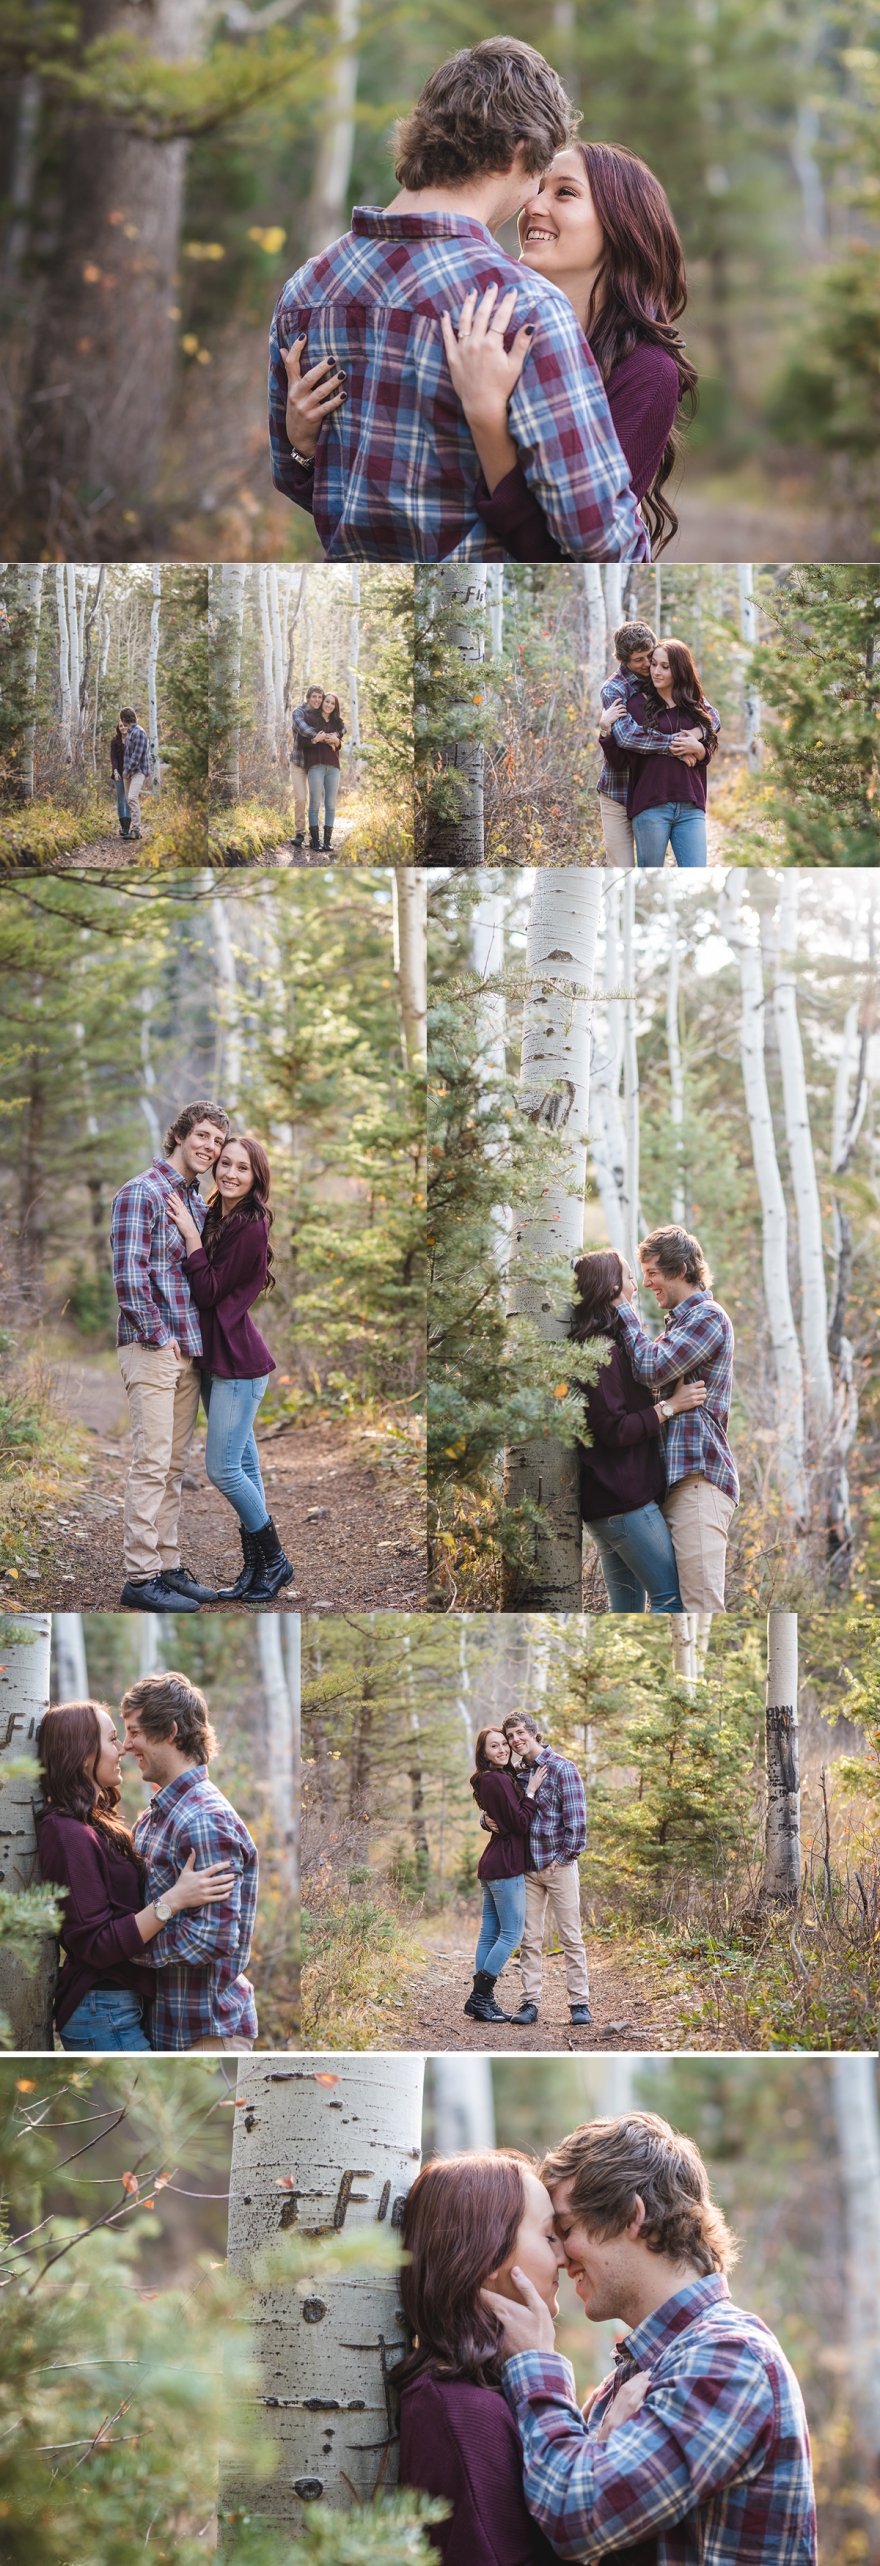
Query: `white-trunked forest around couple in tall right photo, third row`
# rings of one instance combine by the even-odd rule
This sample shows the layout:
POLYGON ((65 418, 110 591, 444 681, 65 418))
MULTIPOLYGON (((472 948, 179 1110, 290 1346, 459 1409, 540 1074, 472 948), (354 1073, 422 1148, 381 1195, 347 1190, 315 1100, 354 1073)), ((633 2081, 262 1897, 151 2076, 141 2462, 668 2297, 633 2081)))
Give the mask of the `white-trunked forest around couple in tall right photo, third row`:
MULTIPOLYGON (((575 1606, 575 1558, 572 1593, 539 1599, 536 1481, 526 1486, 518 1470, 511 1493, 503 1450, 559 1455, 577 1429, 570 1386, 577 1373, 590 1378, 590 1357, 567 1342, 570 1260, 611 1242, 639 1273, 639 1237, 670 1219, 700 1237, 736 1329, 741 1501, 729 1611, 811 1609, 847 1586, 875 1599, 872 878, 842 875, 834 916, 824 875, 798 872, 729 872, 723 885, 631 872, 495 872, 482 883, 454 878, 431 896, 428 1524, 439 1609, 575 1606), (549 1078, 541 1096, 529 1070, 518 1075, 536 996, 541 1024, 570 1024, 570 985, 526 962, 529 919, 557 898, 559 921, 564 901, 577 919, 582 911, 582 952, 593 955, 577 1034, 567 1037, 577 1078, 570 1129, 559 1083, 549 1078)), ((567 921, 567 944, 570 934, 567 921)), ((649 1293, 641 1319, 657 1332, 649 1293)), ((605 1609, 588 1537, 582 1593, 588 1609, 605 1609)))

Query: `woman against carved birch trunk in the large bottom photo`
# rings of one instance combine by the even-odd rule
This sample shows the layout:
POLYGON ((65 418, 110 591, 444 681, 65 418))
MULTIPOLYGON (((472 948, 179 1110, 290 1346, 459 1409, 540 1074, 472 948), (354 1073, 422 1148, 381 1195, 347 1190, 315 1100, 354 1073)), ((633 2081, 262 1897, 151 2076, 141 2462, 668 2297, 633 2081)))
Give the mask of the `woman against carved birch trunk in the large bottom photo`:
POLYGON ((521 2299, 513 2263, 557 2315, 564 2250, 549 2191, 526 2158, 446 2155, 416 2176, 403 2209, 400 2304, 410 2350, 400 2389, 400 2484, 444 2497, 431 2530, 444 2566, 552 2566, 526 2512, 523 2453, 500 2392, 500 2325, 485 2284, 521 2299))

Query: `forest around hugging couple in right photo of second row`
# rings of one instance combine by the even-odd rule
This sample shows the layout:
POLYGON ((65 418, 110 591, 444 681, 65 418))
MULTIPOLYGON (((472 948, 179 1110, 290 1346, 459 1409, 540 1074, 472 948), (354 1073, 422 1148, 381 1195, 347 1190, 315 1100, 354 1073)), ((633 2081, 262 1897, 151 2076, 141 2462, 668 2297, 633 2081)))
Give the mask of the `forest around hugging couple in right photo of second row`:
POLYGON ((865 562, 472 562, 467 598, 418 567, 418 860, 605 862, 595 724, 636 618, 688 644, 721 713, 708 865, 877 865, 877 616, 865 562))

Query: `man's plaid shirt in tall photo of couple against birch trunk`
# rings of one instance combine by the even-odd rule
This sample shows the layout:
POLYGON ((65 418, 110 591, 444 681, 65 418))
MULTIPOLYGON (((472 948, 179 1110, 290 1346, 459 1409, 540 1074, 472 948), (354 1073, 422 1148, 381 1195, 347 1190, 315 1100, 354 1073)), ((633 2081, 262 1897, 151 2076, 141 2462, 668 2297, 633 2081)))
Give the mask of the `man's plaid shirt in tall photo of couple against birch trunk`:
POLYGON ((644 1334, 629 1301, 618 1304, 618 1316, 636 1381, 647 1381, 659 1398, 677 1381, 706 1381, 703 1406, 667 1422, 667 1488, 698 1473, 736 1506, 739 1478, 726 1440, 734 1388, 734 1329, 726 1309, 711 1291, 693 1291, 677 1309, 667 1309, 662 1337, 644 1334))

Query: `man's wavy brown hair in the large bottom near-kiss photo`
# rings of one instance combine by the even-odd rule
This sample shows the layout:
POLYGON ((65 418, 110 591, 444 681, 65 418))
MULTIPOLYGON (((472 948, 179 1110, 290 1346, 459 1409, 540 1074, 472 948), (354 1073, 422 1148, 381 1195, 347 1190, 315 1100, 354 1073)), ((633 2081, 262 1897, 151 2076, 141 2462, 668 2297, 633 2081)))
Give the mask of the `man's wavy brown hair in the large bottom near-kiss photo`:
POLYGON ((539 2173, 546 2191, 572 2186, 567 2214, 600 2243, 623 2235, 639 2196, 649 2253, 695 2263, 700 2273, 736 2263, 736 2238, 711 2196, 700 2150, 659 2112, 588 2120, 544 2155, 539 2173))

